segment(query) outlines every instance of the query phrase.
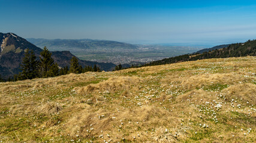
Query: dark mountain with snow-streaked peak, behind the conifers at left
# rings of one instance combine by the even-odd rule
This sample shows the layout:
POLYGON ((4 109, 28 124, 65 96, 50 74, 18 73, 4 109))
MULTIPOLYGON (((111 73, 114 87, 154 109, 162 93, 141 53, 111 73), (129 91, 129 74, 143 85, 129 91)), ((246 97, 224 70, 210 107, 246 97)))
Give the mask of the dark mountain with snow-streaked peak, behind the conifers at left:
MULTIPOLYGON (((14 33, 0 33, 0 74, 8 77, 17 74, 20 71, 20 63, 24 57, 25 49, 32 49, 35 55, 39 57, 41 48, 26 41, 14 33)), ((53 51, 52 57, 60 67, 69 66, 70 60, 74 55, 70 51, 53 51)), ((113 63, 98 63, 94 61, 79 60, 79 63, 84 66, 94 66, 97 64, 101 70, 112 70, 116 65, 113 63)))

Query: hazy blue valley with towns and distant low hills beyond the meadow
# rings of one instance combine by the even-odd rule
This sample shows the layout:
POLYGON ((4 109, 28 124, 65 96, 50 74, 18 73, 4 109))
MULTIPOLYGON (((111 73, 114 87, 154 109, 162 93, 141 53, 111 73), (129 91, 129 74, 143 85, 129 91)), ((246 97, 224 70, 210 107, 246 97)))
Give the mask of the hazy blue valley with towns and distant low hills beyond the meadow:
POLYGON ((92 39, 28 38, 27 40, 40 48, 46 46, 50 51, 70 51, 82 60, 115 64, 143 64, 203 49, 200 46, 142 45, 92 39))

